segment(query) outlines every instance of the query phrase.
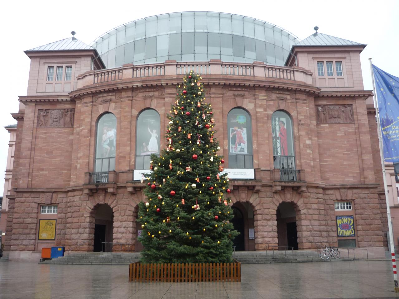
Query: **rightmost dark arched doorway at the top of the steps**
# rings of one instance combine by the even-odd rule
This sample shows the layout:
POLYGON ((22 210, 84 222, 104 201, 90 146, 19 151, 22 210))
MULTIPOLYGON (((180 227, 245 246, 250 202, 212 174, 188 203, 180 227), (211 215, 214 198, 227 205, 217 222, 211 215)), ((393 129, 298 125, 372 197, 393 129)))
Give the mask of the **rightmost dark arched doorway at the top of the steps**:
POLYGON ((296 211, 291 203, 282 202, 277 207, 277 235, 279 249, 284 246, 293 247, 298 250, 298 236, 296 231, 296 211))

